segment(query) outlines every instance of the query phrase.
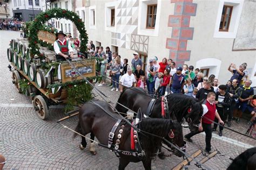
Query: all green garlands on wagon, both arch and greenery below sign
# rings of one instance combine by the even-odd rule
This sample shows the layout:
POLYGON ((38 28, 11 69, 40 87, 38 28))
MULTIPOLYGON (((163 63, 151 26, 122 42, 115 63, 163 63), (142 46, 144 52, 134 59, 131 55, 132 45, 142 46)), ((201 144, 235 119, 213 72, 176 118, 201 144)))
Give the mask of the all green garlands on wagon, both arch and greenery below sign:
MULTIPOLYGON (((39 30, 48 31, 50 33, 57 33, 56 29, 53 29, 49 26, 46 26, 44 23, 46 23, 51 18, 65 18, 68 20, 71 20, 77 27, 77 30, 80 33, 79 39, 80 39, 80 52, 85 53, 87 51, 87 42, 88 37, 85 30, 84 23, 82 22, 82 19, 79 18, 79 16, 72 11, 68 11, 65 9, 51 9, 45 12, 40 13, 37 15, 35 20, 28 25, 26 25, 26 30, 28 30, 28 40, 29 40, 29 48, 30 48, 30 55, 38 55, 41 58, 43 58, 43 54, 39 52, 39 46, 38 44, 41 44, 41 46, 46 46, 49 49, 53 49, 53 44, 50 44, 48 42, 44 42, 42 40, 38 39, 37 32, 39 30)), ((45 69, 50 69, 52 66, 55 66, 55 64, 47 64, 43 65, 42 67, 45 69)), ((56 67, 56 66, 55 66, 56 67)), ((87 80, 92 82, 93 80, 98 80, 99 77, 87 77, 87 80)), ((49 91, 52 91, 52 93, 57 93, 57 91, 60 88, 65 88, 68 90, 68 103, 66 103, 65 112, 73 110, 75 105, 80 105, 86 101, 91 100, 92 98, 92 87, 85 81, 85 80, 76 80, 72 82, 66 82, 66 83, 55 83, 55 84, 49 84, 48 87, 49 91)))

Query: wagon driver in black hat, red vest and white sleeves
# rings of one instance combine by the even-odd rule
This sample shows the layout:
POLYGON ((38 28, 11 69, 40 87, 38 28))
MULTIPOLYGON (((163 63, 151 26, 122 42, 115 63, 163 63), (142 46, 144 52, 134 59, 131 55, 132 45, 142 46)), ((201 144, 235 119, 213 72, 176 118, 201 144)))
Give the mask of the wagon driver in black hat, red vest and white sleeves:
POLYGON ((53 44, 57 61, 65 61, 69 57, 74 58, 73 48, 69 44, 69 41, 65 40, 66 34, 63 31, 59 31, 57 36, 58 39, 53 44))

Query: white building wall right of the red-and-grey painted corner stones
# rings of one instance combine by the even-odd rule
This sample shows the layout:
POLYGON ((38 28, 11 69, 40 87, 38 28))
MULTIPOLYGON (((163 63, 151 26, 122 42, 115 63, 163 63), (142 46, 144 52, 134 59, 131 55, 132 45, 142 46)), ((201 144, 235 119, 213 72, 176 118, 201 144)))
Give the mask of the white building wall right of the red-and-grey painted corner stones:
MULTIPOLYGON (((228 1, 231 2, 231 1, 228 1)), ((240 3, 243 5, 244 1, 233 1, 235 3, 240 3)), ((193 40, 188 41, 187 49, 191 50, 190 61, 187 61, 188 65, 193 65, 195 68, 210 68, 210 74, 216 75, 220 83, 225 84, 227 80, 230 79, 232 74, 227 70, 230 63, 235 63, 239 66, 241 63, 247 63, 247 69, 250 72, 250 79, 252 79, 252 86, 256 86, 256 79, 254 76, 255 73, 255 56, 256 51, 232 51, 234 38, 237 35, 235 32, 235 37, 232 37, 231 34, 227 33, 222 34, 221 38, 216 36, 216 25, 219 25, 219 22, 216 23, 218 16, 218 10, 220 4, 224 3, 221 1, 202 1, 196 0, 193 3, 197 3, 197 15, 191 17, 190 26, 194 27, 193 40), (254 72, 254 73, 253 73, 254 72)), ((242 9, 243 6, 237 6, 237 8, 242 9)), ((221 6, 221 8, 223 8, 221 6)), ((256 10, 256 8, 255 8, 256 10)), ((238 15, 238 13, 232 13, 238 15)), ((246 11, 244 11, 246 12, 246 11)), ((241 15, 241 13, 240 13, 241 15)), ((256 24, 255 19, 250 19, 251 22, 256 24)), ((234 24, 239 23, 240 16, 237 17, 237 20, 233 21, 234 24)), ((246 26, 246 25, 242 25, 246 26)), ((238 27, 236 27, 238 29, 238 27)), ((232 33, 233 34, 233 33, 232 33)))

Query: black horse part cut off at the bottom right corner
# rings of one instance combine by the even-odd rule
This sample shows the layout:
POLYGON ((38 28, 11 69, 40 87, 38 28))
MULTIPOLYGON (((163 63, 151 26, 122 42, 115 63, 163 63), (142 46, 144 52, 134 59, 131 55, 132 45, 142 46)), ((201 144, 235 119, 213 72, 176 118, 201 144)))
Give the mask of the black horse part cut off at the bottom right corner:
POLYGON ((249 148, 245 152, 242 152, 238 155, 237 158, 228 166, 227 170, 232 169, 247 169, 247 160, 253 155, 256 154, 256 147, 249 148))

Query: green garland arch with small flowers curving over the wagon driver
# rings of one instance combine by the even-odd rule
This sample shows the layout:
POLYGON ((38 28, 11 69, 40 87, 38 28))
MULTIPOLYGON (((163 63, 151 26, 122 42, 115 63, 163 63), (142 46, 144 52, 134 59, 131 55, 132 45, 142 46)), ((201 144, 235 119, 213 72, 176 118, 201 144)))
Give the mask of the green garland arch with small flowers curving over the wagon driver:
MULTIPOLYGON (((79 39, 80 39, 80 52, 85 53, 87 51, 87 42, 88 37, 85 30, 84 22, 82 22, 82 19, 79 18, 79 16, 72 11, 68 11, 65 9, 60 8, 54 8, 45 12, 40 13, 37 15, 35 20, 28 26, 28 40, 29 40, 29 48, 30 48, 30 55, 37 54, 40 56, 38 42, 39 39, 37 37, 38 30, 41 30, 43 28, 43 23, 46 23, 51 18, 65 18, 68 20, 71 20, 77 27, 77 30, 80 33, 79 39)), ((47 29, 47 28, 46 28, 47 29)), ((52 45, 53 46, 53 45, 52 45)))

